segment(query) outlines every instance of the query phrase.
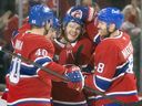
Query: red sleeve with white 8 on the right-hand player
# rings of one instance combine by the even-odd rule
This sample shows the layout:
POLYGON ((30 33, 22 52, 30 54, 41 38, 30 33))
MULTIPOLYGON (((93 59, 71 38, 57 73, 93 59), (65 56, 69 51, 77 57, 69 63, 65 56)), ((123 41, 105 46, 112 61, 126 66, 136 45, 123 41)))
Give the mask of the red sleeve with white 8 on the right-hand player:
POLYGON ((113 42, 103 42, 98 45, 94 54, 95 72, 87 78, 87 84, 100 92, 105 92, 115 74, 119 60, 119 50, 113 42))

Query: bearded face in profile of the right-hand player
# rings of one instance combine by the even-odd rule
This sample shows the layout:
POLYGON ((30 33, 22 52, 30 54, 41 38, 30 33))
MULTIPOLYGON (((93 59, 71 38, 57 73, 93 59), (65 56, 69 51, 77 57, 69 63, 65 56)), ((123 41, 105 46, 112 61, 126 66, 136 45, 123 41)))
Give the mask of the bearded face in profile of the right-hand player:
POLYGON ((99 21, 98 29, 101 36, 108 35, 108 28, 105 22, 99 21))

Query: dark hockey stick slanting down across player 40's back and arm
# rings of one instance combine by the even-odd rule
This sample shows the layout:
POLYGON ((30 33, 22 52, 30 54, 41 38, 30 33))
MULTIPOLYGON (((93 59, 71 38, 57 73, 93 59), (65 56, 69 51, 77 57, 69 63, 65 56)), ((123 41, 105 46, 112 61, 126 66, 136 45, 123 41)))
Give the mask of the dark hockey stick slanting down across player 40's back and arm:
MULTIPOLYGON (((22 57, 22 56, 16 54, 16 53, 12 53, 12 52, 10 52, 10 51, 3 49, 2 46, 0 46, 0 51, 2 51, 2 52, 4 52, 4 53, 9 53, 11 56, 17 56, 17 57, 19 57, 20 60, 22 60, 22 61, 24 61, 24 62, 27 62, 27 63, 29 63, 29 64, 33 64, 34 66, 37 66, 37 67, 39 67, 39 68, 45 71, 47 73, 49 73, 49 74, 51 74, 51 75, 54 75, 54 76, 57 76, 57 77, 62 78, 64 83, 68 83, 68 82, 69 82, 69 80, 68 80, 65 76, 60 75, 60 74, 58 74, 58 73, 55 73, 55 72, 53 72, 53 71, 51 71, 51 70, 49 70, 49 68, 47 68, 47 67, 43 67, 43 66, 41 66, 40 64, 38 64, 38 63, 36 63, 36 62, 32 62, 31 60, 28 60, 28 59, 26 59, 26 57, 22 57)), ((120 105, 122 105, 122 106, 131 106, 131 105, 124 104, 124 103, 121 102, 121 100, 115 99, 114 97, 106 96, 104 93, 101 93, 101 92, 99 92, 99 91, 94 91, 94 89, 90 88, 89 86, 84 86, 84 88, 85 88, 87 91, 91 91, 91 92, 94 93, 94 94, 98 94, 98 95, 101 95, 101 96, 103 96, 103 97, 105 97, 105 98, 109 98, 109 99, 112 100, 113 103, 120 104, 120 105)), ((138 105, 132 105, 132 106, 138 106, 138 105)))

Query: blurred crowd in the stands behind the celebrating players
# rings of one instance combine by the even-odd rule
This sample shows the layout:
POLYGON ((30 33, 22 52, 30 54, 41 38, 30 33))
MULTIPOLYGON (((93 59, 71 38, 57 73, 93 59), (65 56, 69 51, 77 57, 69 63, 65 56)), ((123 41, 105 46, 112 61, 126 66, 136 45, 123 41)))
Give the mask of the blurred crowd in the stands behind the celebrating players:
MULTIPOLYGON (((136 73, 138 81, 140 78, 140 33, 141 33, 141 7, 140 0, 80 0, 82 6, 91 6, 99 11, 99 9, 114 6, 122 10, 124 13, 124 23, 122 30, 131 35, 132 43, 134 46, 134 71, 136 73)), ((75 0, 21 0, 23 21, 24 23, 28 17, 29 9, 39 3, 49 6, 57 17, 62 20, 67 10, 77 4, 75 0)), ((2 0, 0 3, 0 39, 4 40, 6 47, 12 51, 11 36, 14 30, 19 28, 19 0, 2 0), (14 1, 14 2, 13 2, 14 1)), ((1 41, 0 40, 0 41, 1 41)), ((3 52, 0 52, 0 83, 4 84, 4 75, 9 68, 11 56, 3 52)), ((138 83, 139 84, 139 83, 138 83)), ((4 86, 1 86, 3 89, 4 86)), ((2 91, 1 89, 1 91, 2 91)))

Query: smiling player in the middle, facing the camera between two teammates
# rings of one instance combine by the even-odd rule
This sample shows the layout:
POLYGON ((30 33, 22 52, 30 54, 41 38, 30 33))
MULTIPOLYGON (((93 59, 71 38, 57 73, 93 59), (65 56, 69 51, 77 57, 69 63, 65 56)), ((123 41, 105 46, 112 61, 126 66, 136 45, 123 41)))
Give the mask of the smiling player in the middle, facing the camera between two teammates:
MULTIPOLYGON (((55 41, 60 46, 59 64, 87 66, 93 44, 83 33, 84 23, 78 18, 65 15, 63 26, 63 38, 55 41)), ((87 106, 83 92, 73 91, 64 83, 53 82, 52 97, 53 106, 87 106)))

